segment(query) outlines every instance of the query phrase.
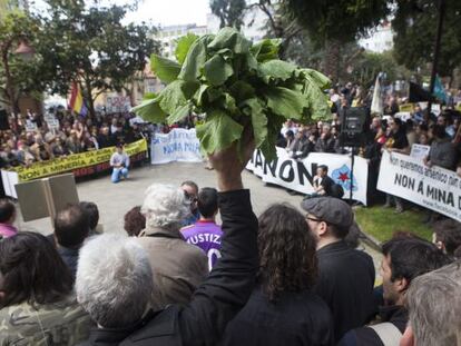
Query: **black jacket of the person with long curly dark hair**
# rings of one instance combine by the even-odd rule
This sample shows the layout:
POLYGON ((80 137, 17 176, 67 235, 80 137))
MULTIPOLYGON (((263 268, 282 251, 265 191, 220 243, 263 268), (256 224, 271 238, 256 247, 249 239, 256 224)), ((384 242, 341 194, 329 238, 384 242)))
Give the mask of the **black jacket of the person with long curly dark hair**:
POLYGON ((283 293, 271 303, 261 288, 227 325, 222 346, 333 345, 333 319, 314 293, 283 293))

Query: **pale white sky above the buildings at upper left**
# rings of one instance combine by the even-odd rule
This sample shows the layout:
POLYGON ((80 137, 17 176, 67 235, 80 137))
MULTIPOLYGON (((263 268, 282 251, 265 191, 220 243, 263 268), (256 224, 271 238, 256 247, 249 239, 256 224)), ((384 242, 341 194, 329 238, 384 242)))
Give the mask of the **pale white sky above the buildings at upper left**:
MULTIPOLYGON (((46 8, 42 0, 32 0, 33 9, 46 8)), ((90 0, 88 0, 90 2, 90 0)), ((126 0, 102 0, 104 3, 126 3, 126 0)), ((139 0, 138 10, 127 14, 127 22, 146 21, 154 26, 206 24, 209 0, 139 0)))

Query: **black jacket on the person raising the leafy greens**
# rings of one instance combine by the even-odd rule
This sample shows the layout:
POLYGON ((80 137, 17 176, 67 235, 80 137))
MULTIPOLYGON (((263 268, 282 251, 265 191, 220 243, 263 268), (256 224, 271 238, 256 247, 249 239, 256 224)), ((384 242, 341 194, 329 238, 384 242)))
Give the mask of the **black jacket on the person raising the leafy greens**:
POLYGON ((248 190, 219 194, 222 258, 185 306, 149 313, 126 329, 92 329, 82 345, 216 345, 227 323, 247 301, 258 268, 257 219, 248 190))

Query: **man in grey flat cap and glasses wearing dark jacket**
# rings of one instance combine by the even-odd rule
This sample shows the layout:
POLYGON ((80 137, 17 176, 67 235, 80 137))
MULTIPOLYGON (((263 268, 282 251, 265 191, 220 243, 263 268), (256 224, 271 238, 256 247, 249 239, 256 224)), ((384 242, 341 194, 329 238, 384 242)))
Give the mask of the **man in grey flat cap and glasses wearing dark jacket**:
POLYGON ((308 228, 317 239, 318 280, 315 291, 330 306, 335 342, 374 316, 374 265, 370 255, 344 241, 354 223, 351 207, 334 197, 305 199, 308 228))

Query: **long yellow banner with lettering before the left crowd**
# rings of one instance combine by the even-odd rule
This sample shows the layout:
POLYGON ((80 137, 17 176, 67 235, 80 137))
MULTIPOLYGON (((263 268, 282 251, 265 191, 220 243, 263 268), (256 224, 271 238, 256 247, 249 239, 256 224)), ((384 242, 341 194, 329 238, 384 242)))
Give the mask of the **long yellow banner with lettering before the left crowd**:
MULTIPOLYGON (((72 171, 76 177, 88 176, 110 168, 110 156, 115 147, 99 150, 73 154, 58 157, 52 160, 35 162, 29 167, 21 166, 9 169, 10 172, 18 175, 18 180, 29 181, 38 178, 55 176, 58 174, 72 171)), ((125 151, 131 161, 138 161, 146 157, 147 142, 140 139, 125 146, 125 151)))

